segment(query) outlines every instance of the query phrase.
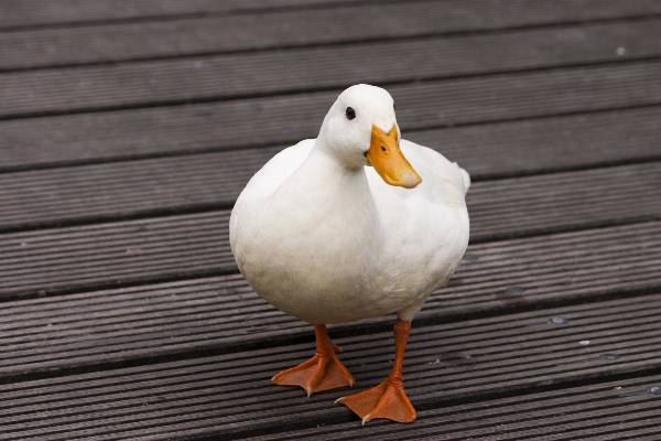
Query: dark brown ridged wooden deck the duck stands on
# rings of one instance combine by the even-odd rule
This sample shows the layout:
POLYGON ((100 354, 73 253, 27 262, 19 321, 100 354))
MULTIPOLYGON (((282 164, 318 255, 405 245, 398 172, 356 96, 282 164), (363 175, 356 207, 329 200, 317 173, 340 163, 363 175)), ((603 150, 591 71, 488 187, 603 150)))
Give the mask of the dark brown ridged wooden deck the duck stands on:
POLYGON ((0 206, 2 440, 661 440, 661 1, 0 0, 0 206), (411 426, 270 384, 313 330, 227 237, 356 83, 474 179, 411 426))

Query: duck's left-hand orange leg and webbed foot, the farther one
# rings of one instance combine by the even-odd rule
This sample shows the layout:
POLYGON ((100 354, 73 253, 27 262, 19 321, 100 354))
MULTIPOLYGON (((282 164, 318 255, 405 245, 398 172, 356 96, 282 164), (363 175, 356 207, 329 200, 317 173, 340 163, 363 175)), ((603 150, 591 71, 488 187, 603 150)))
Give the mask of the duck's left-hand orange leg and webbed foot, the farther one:
POLYGON ((317 344, 314 356, 296 367, 275 375, 271 378, 271 383, 282 386, 301 386, 308 397, 312 392, 354 386, 356 384, 354 377, 335 355, 342 349, 330 341, 326 325, 315 324, 314 333, 317 344))

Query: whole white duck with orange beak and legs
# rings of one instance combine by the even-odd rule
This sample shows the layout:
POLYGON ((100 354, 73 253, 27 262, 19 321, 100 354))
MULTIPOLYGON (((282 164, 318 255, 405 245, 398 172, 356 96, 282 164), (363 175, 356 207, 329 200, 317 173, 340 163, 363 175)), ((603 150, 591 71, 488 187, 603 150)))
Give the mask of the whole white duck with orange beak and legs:
POLYGON ((308 396, 353 386, 325 325, 397 312, 391 374, 337 402, 362 423, 415 419, 401 377, 404 346, 413 316, 466 250, 469 182, 434 150, 400 142, 390 94, 369 85, 343 92, 318 138, 285 149, 254 174, 229 223, 237 265, 259 295, 316 333, 314 357, 273 383, 308 396))

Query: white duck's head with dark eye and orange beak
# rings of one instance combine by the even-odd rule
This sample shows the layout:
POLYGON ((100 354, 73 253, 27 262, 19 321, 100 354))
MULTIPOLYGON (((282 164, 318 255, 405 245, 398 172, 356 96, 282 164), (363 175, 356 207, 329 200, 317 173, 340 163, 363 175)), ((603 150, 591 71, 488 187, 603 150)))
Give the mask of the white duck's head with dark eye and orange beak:
POLYGON ((359 84, 343 92, 324 118, 319 148, 349 169, 371 165, 390 185, 422 182, 400 150, 394 103, 380 87, 359 84))

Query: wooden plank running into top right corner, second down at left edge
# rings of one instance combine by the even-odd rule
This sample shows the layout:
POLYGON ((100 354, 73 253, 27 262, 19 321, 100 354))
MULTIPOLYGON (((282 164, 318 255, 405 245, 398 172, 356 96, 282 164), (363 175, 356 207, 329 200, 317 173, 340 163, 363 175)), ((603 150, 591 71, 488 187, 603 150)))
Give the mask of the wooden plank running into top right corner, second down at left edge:
POLYGON ((30 29, 0 33, 0 68, 355 43, 659 13, 661 6, 654 0, 626 4, 617 0, 447 0, 30 29))

